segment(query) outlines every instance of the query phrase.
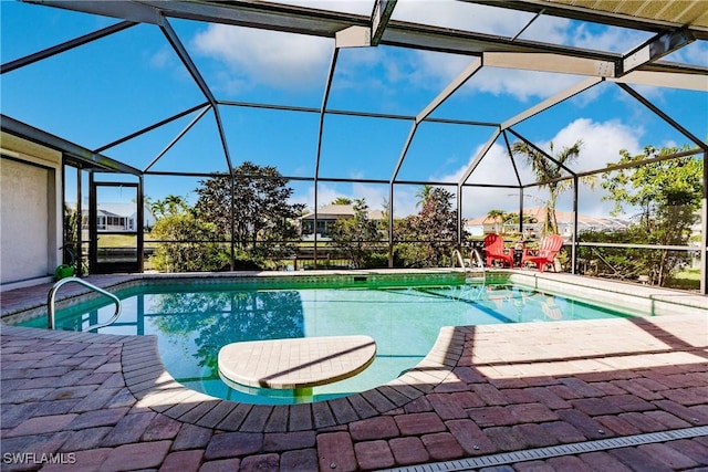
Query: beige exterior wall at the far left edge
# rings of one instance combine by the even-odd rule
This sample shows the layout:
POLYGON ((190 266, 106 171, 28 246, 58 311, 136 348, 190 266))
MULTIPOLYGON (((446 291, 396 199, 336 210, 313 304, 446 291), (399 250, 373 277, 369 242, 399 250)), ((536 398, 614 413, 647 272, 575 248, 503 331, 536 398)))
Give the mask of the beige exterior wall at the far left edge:
POLYGON ((0 138, 1 290, 51 280, 62 237, 61 154, 0 138))

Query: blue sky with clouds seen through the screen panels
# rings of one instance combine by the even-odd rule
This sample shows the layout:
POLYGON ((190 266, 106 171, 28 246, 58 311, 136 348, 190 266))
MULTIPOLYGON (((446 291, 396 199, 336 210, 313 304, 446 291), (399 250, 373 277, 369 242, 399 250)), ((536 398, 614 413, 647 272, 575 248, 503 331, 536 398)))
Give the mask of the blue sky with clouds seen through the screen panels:
MULTIPOLYGON (((289 3, 335 8, 368 15, 371 1, 289 3)), ((1 1, 1 55, 7 63, 56 43, 105 28, 114 19, 33 4, 1 1)), ((500 14, 490 7, 448 0, 400 0, 394 19, 430 22, 506 36, 516 35, 530 13, 500 14)), ((334 41, 246 28, 210 25, 170 19, 218 99, 262 102, 319 108, 334 41)), ((620 28, 587 25, 541 17, 522 39, 624 53, 650 34, 620 28)), ((708 64, 708 45, 694 42, 667 61, 708 64)), ((352 109, 415 116, 435 98, 471 57, 378 46, 340 51, 330 109, 352 109)), ((583 77, 482 67, 434 117, 503 122, 583 77)), ((91 44, 64 52, 2 75, 2 113, 87 148, 98 148, 155 122, 205 102, 198 87, 157 27, 140 24, 91 44)), ((708 94, 636 86, 644 96, 689 132, 708 136, 708 94)), ((197 115, 195 112, 105 155, 145 168, 197 115)), ((272 165, 289 176, 312 176, 315 167, 319 115, 243 107, 220 107, 231 159, 272 165)), ((152 168, 163 171, 226 170, 215 118, 207 113, 152 168)), ((327 115, 320 176, 323 178, 384 179, 392 177, 410 122, 327 115)), ((638 153, 646 145, 688 143, 642 104, 612 83, 602 83, 514 127, 535 144, 556 148, 583 139, 579 170, 595 169, 618 159, 620 149, 638 153)), ((455 183, 489 139, 483 126, 423 123, 398 174, 402 180, 455 183)), ((498 140, 470 182, 511 183, 512 174, 503 140, 498 140)), ((529 178, 529 171, 524 169, 529 178)), ((195 199, 197 180, 184 177, 146 177, 153 199, 175 193, 195 199)), ((294 200, 312 208, 311 182, 293 181, 294 200)), ((416 211, 419 187, 396 186, 397 214, 416 211)), ((450 187, 452 190, 454 187, 450 187)), ((530 200, 542 199, 531 191, 530 200)), ((381 208, 388 197, 385 185, 321 182, 319 203, 337 196, 366 198, 381 208)), ((464 216, 486 214, 492 208, 513 210, 518 197, 508 190, 468 189, 464 216)), ((570 195, 562 199, 568 207, 570 195)), ((586 192, 586 213, 605 213, 608 203, 586 192)), ((533 204, 533 203, 527 203, 533 204)))

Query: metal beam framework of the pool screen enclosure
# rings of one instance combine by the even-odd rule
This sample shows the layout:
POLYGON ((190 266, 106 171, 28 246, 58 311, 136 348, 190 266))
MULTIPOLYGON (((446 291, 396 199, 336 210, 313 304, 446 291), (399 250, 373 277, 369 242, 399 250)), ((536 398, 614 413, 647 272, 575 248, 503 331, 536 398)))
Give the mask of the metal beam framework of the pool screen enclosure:
MULTIPOLYGON (((269 111, 299 112, 317 116, 319 132, 316 136, 316 153, 314 159, 314 174, 304 180, 314 182, 315 219, 316 208, 320 206, 317 198, 317 182, 344 181, 347 179, 331 178, 321 175, 322 141, 326 134, 325 119, 330 116, 361 116, 379 119, 403 120, 409 124, 407 137, 399 150, 396 164, 388 169, 388 179, 361 179, 363 182, 381 183, 388 186, 388 218, 389 241, 393 241, 394 218, 394 187, 400 183, 428 183, 454 185, 457 188, 458 218, 462 218, 462 190, 469 187, 508 187, 519 192, 520 210, 523 209, 523 189, 533 187, 538 182, 524 182, 520 176, 517 164, 511 156, 509 139, 522 140, 544 154, 546 158, 553 157, 538 146, 532 139, 524 136, 518 129, 518 125, 527 119, 551 108, 569 98, 572 98, 598 84, 613 83, 633 99, 642 104, 647 111, 658 116, 668 126, 673 127, 688 143, 695 145, 688 155, 702 155, 704 161, 708 154, 708 145, 690 130, 660 109, 650 99, 637 91, 635 86, 657 86, 669 88, 684 88, 689 91, 708 92, 708 67, 687 63, 666 62, 662 59, 694 41, 708 40, 708 4, 702 0, 670 1, 670 0, 644 0, 632 2, 594 1, 594 0, 465 0, 464 3, 493 7, 500 11, 519 10, 530 12, 529 22, 520 29, 516 35, 499 36, 466 30, 454 30, 433 24, 412 23, 392 18, 396 9, 396 0, 372 0, 372 13, 369 15, 354 14, 345 11, 329 9, 336 3, 322 3, 323 8, 301 7, 293 4, 261 2, 261 1, 31 1, 48 7, 56 7, 93 13, 103 17, 115 18, 118 21, 110 27, 100 29, 88 34, 75 38, 54 46, 38 51, 33 54, 4 63, 1 73, 6 74, 33 63, 43 61, 56 54, 70 51, 92 43, 105 36, 116 34, 137 24, 149 24, 159 29, 165 41, 177 54, 189 76, 197 85, 204 101, 195 103, 179 113, 143 127, 134 133, 122 136, 112 143, 106 143, 97 148, 88 148, 82 144, 72 143, 62 137, 51 135, 32 124, 22 123, 13 117, 1 116, 2 130, 23 137, 34 143, 42 144, 53 149, 61 150, 66 158, 111 171, 118 171, 137 176, 142 181, 144 176, 150 175, 195 175, 198 172, 160 172, 154 170, 168 150, 178 143, 189 130, 205 116, 211 114, 216 125, 216 132, 220 140, 220 148, 228 172, 232 172, 235 156, 233 144, 229 141, 221 118, 225 107, 248 107, 269 111), (597 23, 602 25, 620 27, 629 30, 646 32, 648 40, 636 44, 627 53, 615 53, 603 50, 589 50, 570 46, 556 42, 539 42, 520 38, 524 30, 530 28, 542 17, 560 17, 576 21, 597 23), (207 23, 221 23, 252 29, 280 31, 303 35, 326 38, 334 41, 332 56, 326 75, 324 94, 320 107, 295 107, 278 103, 262 102, 233 102, 219 99, 204 77, 202 71, 196 64, 186 48, 183 39, 173 28, 174 20, 195 20, 207 23), (335 71, 337 70, 340 52, 350 48, 376 48, 379 45, 396 46, 413 50, 451 53, 469 57, 469 65, 457 77, 447 84, 427 105, 415 115, 381 114, 353 109, 334 109, 330 106, 330 93, 335 71), (579 80, 571 86, 562 90, 546 99, 541 101, 513 116, 508 116, 500 122, 465 120, 444 118, 435 112, 468 81, 485 67, 502 67, 512 70, 541 71, 549 73, 572 74, 579 80), (122 162, 110 156, 112 148, 138 138, 166 124, 170 124, 186 116, 194 118, 174 136, 165 148, 155 155, 149 164, 143 168, 122 162), (479 153, 472 159, 462 177, 456 182, 449 181, 420 181, 400 178, 402 166, 406 162, 412 143, 416 139, 419 127, 425 123, 455 124, 481 127, 487 130, 488 138, 479 153), (501 141, 508 149, 509 168, 513 169, 513 183, 499 185, 494 182, 472 182, 470 177, 487 158, 489 149, 496 143, 501 141)), ((316 2, 312 2, 320 7, 316 2)), ((430 3, 435 9, 435 2, 430 3)), ((617 168, 615 168, 617 169, 617 168)), ((563 179, 572 179, 574 197, 573 210, 577 214, 579 179, 584 175, 591 175, 606 169, 592 169, 577 171, 564 167, 566 172, 563 179)), ((701 242, 701 292, 708 293, 708 258, 707 248, 707 208, 706 185, 707 169, 704 166, 704 206, 702 206, 702 242, 701 242)), ((290 177, 290 176, 285 176, 290 177)), ((290 177, 303 179, 302 177, 290 177)), ((232 189, 233 191, 233 189, 232 189)), ((142 208, 142 206, 139 206, 142 208)), ((521 211, 520 211, 521 212, 521 211)), ((521 223, 522 224, 522 223, 521 223)), ((575 221, 577 228, 577 221, 575 221)), ((576 231, 573 233, 575 238, 576 231)), ((458 237, 458 239, 461 235, 458 237)), ((460 241, 458 240, 458 243, 460 241)), ((142 244, 142 241, 140 241, 142 244)), ((575 261, 576 244, 573 240, 572 256, 575 261)), ((316 237, 315 237, 316 251, 316 237)), ((573 263, 575 266, 575 263, 573 263)))

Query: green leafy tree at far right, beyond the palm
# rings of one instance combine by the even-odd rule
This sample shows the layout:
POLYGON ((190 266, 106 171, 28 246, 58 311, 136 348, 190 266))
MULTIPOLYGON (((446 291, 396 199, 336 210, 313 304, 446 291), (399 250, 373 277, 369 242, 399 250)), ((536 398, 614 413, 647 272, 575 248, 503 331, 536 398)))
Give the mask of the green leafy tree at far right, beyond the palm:
MULTIPOLYGON (((687 146, 684 149, 656 149, 647 146, 644 153, 636 156, 623 149, 616 164, 641 162, 686 149, 687 146)), ((635 228, 631 229, 629 233, 641 234, 644 241, 632 242, 658 245, 688 244, 691 225, 699 219, 702 166, 701 159, 686 156, 642 164, 604 176, 602 187, 610 192, 604 199, 615 202, 613 214, 625 212, 626 207, 638 210, 634 216, 635 228)), ((655 256, 647 255, 643 264, 649 272, 652 282, 663 286, 671 271, 685 260, 686 255, 671 255, 669 250, 664 249, 657 250, 655 256)))

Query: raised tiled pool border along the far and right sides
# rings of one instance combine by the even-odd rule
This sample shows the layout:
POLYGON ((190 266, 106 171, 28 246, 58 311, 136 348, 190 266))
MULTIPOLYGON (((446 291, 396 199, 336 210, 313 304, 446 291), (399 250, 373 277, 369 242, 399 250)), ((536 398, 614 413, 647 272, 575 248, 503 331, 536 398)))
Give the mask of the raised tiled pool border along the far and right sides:
MULTIPOLYGON (((479 273, 476 273, 479 275, 479 273)), ((537 290, 546 290, 571 295, 580 300, 597 304, 598 296, 606 302, 610 308, 632 308, 633 315, 653 316, 667 314, 706 314, 708 313, 708 296, 685 291, 676 291, 634 283, 607 281, 583 275, 568 273, 540 273, 530 270, 493 270, 487 271, 487 275, 508 277, 510 282, 532 286, 537 290)), ((191 282, 204 285, 222 284, 225 280, 238 285, 247 284, 283 284, 296 286, 311 283, 340 283, 343 286, 356 286, 360 283, 382 283, 384 281, 412 282, 464 282, 467 273, 462 269, 426 269, 402 270, 379 269, 361 271, 299 271, 299 272, 188 272, 188 273, 143 273, 143 274, 116 274, 94 275, 86 280, 102 289, 127 290, 143 283, 160 285, 175 281, 191 282), (366 280, 363 280, 365 277, 366 280), (98 282, 100 281, 100 282, 98 282)), ((49 291, 51 284, 45 284, 49 291)), ((277 287, 277 286, 274 286, 277 287)), ((56 308, 62 310, 75 304, 97 300, 102 295, 81 286, 73 292, 64 290, 56 293, 56 308)), ((603 304, 600 303, 602 306, 603 304)), ((46 314, 46 300, 39 298, 23 303, 22 306, 2 307, 0 322, 17 324, 46 314)))

